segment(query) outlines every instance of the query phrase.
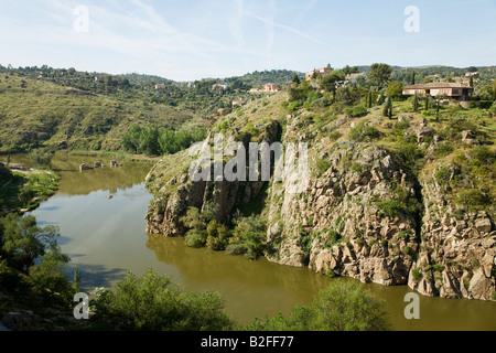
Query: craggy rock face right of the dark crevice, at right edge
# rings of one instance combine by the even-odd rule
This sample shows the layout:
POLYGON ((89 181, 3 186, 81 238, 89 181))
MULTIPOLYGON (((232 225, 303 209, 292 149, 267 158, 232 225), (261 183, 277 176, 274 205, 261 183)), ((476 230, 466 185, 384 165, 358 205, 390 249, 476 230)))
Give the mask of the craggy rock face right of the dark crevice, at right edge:
POLYGON ((455 216, 435 179, 422 183, 419 259, 409 286, 427 296, 495 300, 496 232, 486 212, 455 216), (429 284, 429 285, 427 285, 429 284))

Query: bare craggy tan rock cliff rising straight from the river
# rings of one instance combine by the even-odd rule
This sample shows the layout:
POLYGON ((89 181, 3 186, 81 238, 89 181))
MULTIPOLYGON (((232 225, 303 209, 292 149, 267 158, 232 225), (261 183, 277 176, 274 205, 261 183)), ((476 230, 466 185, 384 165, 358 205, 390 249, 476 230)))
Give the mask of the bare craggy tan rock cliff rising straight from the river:
MULTIPOLYGON (((269 260, 363 282, 408 285, 425 296, 496 300, 492 204, 486 211, 461 207, 436 181, 436 168, 413 171, 387 143, 347 138, 345 133, 357 126, 352 119, 332 119, 322 129, 309 115, 284 116, 279 119, 282 135, 272 121, 258 133, 251 128, 247 136, 242 133, 248 130, 246 120, 237 116, 225 120, 230 128, 228 141, 242 137, 245 143, 281 140, 310 147, 310 180, 304 192, 288 192, 294 174, 268 185, 263 215, 269 260), (344 137, 334 141, 323 132, 330 130, 342 131, 344 137)), ((375 116, 365 122, 377 131, 392 129, 393 124, 398 121, 375 116)), ((409 126, 405 135, 427 151, 429 160, 441 138, 423 119, 410 117, 409 126)), ((212 143, 212 136, 205 143, 212 143)), ((184 235, 187 228, 181 220, 191 206, 219 205, 216 218, 227 222, 236 205, 252 202, 265 185, 192 182, 186 172, 193 160, 190 154, 194 153, 165 157, 148 176, 148 186, 155 193, 147 214, 149 233, 184 235)), ((430 161, 438 168, 442 164, 430 161)))

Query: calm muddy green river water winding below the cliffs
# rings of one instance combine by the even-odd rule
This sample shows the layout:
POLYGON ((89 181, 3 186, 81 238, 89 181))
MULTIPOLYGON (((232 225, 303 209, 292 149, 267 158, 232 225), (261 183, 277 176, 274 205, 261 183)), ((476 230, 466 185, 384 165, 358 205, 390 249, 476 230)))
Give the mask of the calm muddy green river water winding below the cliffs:
MULTIPOLYGON (((171 275, 186 290, 218 290, 227 311, 247 323, 257 317, 288 314, 294 306, 310 304, 332 280, 351 280, 265 259, 249 261, 192 249, 179 238, 147 235, 144 214, 152 195, 143 180, 152 164, 125 161, 122 168, 110 169, 109 160, 56 156, 53 168, 62 176, 60 191, 32 213, 42 225, 60 226, 62 250, 71 256, 71 267, 82 271, 86 291, 112 286, 127 271, 141 275, 152 268, 171 275), (80 163, 93 165, 96 160, 106 168, 78 171, 80 163)), ((11 162, 29 164, 25 157, 11 162)), ((365 287, 385 300, 395 330, 496 330, 495 302, 420 297, 420 320, 409 321, 403 315, 408 287, 365 287)))

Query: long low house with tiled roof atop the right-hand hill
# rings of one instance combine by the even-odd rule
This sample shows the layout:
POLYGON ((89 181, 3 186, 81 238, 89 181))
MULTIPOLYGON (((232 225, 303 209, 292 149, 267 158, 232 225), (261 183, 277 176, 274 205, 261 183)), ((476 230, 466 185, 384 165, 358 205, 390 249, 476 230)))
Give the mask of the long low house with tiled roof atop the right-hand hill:
POLYGON ((422 85, 411 85, 403 89, 403 95, 413 96, 431 95, 436 97, 438 95, 445 95, 448 99, 456 99, 461 101, 468 100, 470 94, 474 90, 473 87, 461 83, 436 82, 422 85))

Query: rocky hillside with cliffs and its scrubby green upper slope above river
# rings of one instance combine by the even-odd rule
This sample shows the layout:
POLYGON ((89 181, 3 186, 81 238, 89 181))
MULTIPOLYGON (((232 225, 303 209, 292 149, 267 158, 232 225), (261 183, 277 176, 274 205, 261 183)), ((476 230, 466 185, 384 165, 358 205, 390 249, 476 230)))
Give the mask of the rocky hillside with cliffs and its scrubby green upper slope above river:
POLYGON ((266 224, 271 261, 408 285, 425 296, 496 300, 495 129, 487 111, 446 107, 439 119, 400 101, 390 119, 379 107, 351 118, 326 107, 289 114, 287 99, 278 94, 234 111, 205 146, 215 132, 246 146, 306 142, 304 192, 289 192, 301 176, 294 171, 282 182, 193 182, 187 170, 197 152, 166 156, 147 178, 155 194, 148 232, 184 236, 187 211, 205 214, 212 205, 216 222, 231 228, 249 208, 266 224))

